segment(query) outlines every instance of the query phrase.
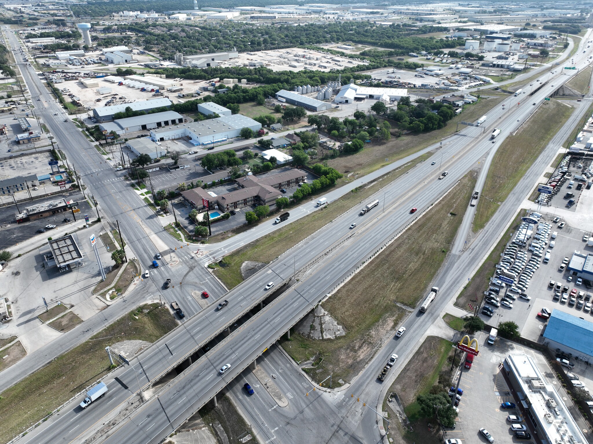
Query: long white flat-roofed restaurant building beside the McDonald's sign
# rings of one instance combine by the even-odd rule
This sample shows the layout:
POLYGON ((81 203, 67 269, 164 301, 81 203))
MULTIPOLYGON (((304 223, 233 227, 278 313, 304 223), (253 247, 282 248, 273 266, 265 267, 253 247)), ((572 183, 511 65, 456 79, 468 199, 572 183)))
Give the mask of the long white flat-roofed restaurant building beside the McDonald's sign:
POLYGON ((540 370, 533 357, 525 353, 510 354, 503 361, 503 372, 517 393, 519 403, 533 423, 534 432, 541 442, 587 442, 566 407, 563 395, 544 376, 547 370, 540 370))

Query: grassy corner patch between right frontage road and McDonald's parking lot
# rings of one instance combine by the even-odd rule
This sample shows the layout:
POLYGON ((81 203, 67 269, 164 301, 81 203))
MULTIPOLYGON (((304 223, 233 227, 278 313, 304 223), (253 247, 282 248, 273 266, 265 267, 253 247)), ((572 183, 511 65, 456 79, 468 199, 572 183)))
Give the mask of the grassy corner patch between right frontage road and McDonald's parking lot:
MULTIPOLYGON (((416 397, 427 394, 438 381, 439 372, 450 368, 450 359, 453 355, 451 344, 451 342, 436 336, 427 337, 387 392, 388 395, 391 392, 397 393, 410 420, 412 431, 404 429, 398 423, 398 429, 406 442, 423 444, 442 442, 439 439, 438 430, 429 429, 429 420, 419 416, 416 397)), ((394 417, 393 414, 390 416, 394 417)), ((391 427, 391 430, 394 429, 396 427, 391 427)))

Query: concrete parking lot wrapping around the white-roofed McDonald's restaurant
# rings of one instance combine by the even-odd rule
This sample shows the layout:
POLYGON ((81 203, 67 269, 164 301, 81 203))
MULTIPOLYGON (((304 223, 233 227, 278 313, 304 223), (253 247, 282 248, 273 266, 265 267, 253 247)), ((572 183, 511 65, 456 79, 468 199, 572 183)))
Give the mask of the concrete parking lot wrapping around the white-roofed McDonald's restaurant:
MULTIPOLYGON (((511 430, 511 423, 507 420, 509 414, 518 416, 522 420, 520 424, 525 424, 527 432, 533 435, 533 430, 530 430, 530 421, 525 421, 521 411, 518 408, 501 408, 501 403, 518 404, 519 400, 509 389, 500 371, 500 363, 511 353, 525 353, 535 359, 541 373, 562 392, 560 382, 557 381, 555 373, 551 371, 541 353, 500 337, 493 346, 489 345, 487 344, 488 334, 484 332, 476 333, 475 337, 478 340, 480 354, 474 358, 471 369, 463 368, 460 382, 463 395, 458 406, 459 420, 455 429, 446 429, 445 439, 460 439, 462 443, 487 443, 479 433, 479 430, 484 427, 496 443, 533 442, 533 440, 517 440, 511 430)), ((589 373, 593 371, 589 370, 589 373)), ((565 403, 569 407, 574 407, 568 395, 564 392, 562 394, 565 403)))

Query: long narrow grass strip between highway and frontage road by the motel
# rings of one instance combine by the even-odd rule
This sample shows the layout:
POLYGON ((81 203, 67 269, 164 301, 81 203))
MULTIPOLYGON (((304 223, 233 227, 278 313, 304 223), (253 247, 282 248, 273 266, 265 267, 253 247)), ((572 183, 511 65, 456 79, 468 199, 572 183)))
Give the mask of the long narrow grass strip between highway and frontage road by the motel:
POLYGON ((383 175, 371 184, 350 191, 350 193, 331 202, 330 205, 327 205, 325 208, 314 211, 310 215, 298 219, 298 221, 289 223, 285 227, 257 239, 257 241, 251 242, 243 248, 240 248, 240 250, 225 256, 222 260, 224 267, 216 267, 214 274, 222 280, 228 289, 234 288, 243 282, 241 265, 243 265, 245 261, 269 263, 286 250, 289 250, 289 248, 297 245, 311 233, 333 221, 337 216, 346 212, 353 206, 364 202, 364 200, 368 199, 368 197, 375 193, 375 191, 396 180, 398 177, 412 169, 420 161, 428 158, 428 156, 428 154, 419 156, 414 161, 408 162, 397 170, 383 175))

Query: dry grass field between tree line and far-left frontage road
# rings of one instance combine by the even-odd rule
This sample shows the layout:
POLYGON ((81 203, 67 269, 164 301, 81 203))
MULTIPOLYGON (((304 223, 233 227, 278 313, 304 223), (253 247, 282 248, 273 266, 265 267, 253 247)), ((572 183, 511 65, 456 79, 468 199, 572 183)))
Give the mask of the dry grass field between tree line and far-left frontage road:
MULTIPOLYGON (((506 96, 505 96, 506 97, 506 96)), ((336 168, 340 173, 368 174, 378 168, 384 167, 392 162, 413 154, 432 143, 438 142, 455 132, 457 122, 461 120, 473 122, 486 111, 495 107, 504 97, 482 98, 478 103, 471 106, 466 105, 463 113, 451 119, 447 126, 436 131, 420 134, 407 134, 400 138, 392 137, 387 143, 369 143, 365 149, 357 154, 349 156, 340 156, 331 159, 328 162, 330 167, 336 168), (388 160, 385 161, 385 158, 388 160)), ((391 122, 391 127, 395 128, 396 123, 391 122)))

